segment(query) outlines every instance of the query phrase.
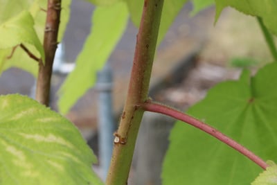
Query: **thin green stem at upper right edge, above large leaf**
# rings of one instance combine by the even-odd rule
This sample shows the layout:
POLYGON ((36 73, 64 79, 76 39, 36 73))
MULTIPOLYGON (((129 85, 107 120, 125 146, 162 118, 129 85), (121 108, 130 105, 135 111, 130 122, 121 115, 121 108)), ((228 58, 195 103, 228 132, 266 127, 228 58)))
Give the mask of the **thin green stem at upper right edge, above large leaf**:
POLYGON ((260 25, 260 28, 262 29, 262 33, 265 37, 265 40, 267 41, 267 45, 269 46, 271 55, 273 56, 274 60, 277 62, 277 50, 276 50, 276 46, 274 44, 274 39, 273 39, 271 33, 269 33, 269 30, 267 30, 267 27, 265 27, 265 24, 263 23, 262 18, 257 17, 257 20, 260 25))

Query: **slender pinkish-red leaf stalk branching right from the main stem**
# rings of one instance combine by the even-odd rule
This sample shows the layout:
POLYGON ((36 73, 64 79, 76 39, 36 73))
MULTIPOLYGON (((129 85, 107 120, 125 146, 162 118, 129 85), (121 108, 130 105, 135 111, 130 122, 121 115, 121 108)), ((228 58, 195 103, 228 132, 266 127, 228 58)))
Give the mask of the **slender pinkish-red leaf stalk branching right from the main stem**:
POLYGON ((203 123, 202 121, 199 121, 196 118, 193 118, 191 116, 188 116, 187 114, 184 114, 183 112, 179 112, 178 110, 172 109, 171 107, 166 107, 165 105, 160 105, 158 103, 152 103, 150 100, 141 104, 141 108, 144 109, 145 111, 165 114, 167 116, 171 116, 172 118, 177 118, 180 121, 184 121, 190 125, 193 125, 194 127, 199 128, 199 130, 202 130, 202 131, 210 134, 211 136, 214 136, 215 138, 222 141, 226 145, 231 146, 231 148, 242 153, 242 155, 251 159, 253 162, 255 162, 258 166, 260 166, 264 170, 268 166, 265 161, 260 159, 260 157, 253 154, 253 152, 251 152, 247 148, 244 148, 244 146, 240 145, 233 139, 222 134, 220 131, 215 130, 215 128, 213 128, 209 125, 206 125, 206 123, 203 123))

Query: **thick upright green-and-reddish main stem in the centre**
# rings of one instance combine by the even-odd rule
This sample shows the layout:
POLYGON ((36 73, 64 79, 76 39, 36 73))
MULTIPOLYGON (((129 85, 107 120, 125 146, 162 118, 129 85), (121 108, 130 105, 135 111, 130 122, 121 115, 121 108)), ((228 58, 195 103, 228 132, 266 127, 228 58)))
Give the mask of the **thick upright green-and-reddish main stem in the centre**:
POLYGON ((163 0, 144 1, 127 100, 115 134, 107 185, 127 184, 136 136, 143 116, 143 109, 138 109, 136 105, 145 102, 148 98, 162 8, 163 0))

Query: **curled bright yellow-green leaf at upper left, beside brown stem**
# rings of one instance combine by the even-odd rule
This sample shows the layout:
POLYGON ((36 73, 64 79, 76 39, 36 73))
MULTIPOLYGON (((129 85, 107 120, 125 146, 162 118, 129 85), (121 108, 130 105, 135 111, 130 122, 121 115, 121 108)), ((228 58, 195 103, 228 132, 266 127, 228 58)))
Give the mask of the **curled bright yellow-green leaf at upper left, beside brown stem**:
POLYGON ((44 60, 44 49, 33 28, 34 21, 30 12, 23 11, 0 25, 0 49, 8 49, 18 44, 32 44, 44 60))

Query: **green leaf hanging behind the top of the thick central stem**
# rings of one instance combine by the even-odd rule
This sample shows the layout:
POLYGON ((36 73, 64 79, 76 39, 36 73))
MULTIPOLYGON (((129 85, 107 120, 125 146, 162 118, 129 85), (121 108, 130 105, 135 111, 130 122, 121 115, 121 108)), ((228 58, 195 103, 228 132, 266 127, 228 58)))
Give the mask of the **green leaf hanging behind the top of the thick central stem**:
MULTIPOLYGON (((139 27, 143 11, 143 1, 125 0, 127 2, 131 19, 135 26, 139 27)), ((177 17, 188 0, 165 0, 163 3, 163 12, 161 13, 161 24, 159 28, 158 44, 161 43, 166 35, 168 28, 177 17)))

